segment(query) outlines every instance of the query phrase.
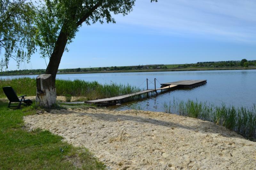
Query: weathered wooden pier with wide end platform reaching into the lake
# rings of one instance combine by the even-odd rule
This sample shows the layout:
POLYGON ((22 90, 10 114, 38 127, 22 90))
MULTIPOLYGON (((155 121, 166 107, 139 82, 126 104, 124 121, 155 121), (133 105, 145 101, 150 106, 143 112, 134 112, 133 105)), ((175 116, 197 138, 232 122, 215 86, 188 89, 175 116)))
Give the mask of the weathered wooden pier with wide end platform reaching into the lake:
MULTIPOLYGON (((153 91, 155 91, 157 93, 157 90, 166 90, 166 89, 172 89, 172 88, 194 88, 197 86, 201 86, 205 83, 206 83, 206 80, 181 80, 181 81, 163 83, 163 84, 161 84, 161 88, 156 89, 156 79, 155 79, 155 89, 147 89, 147 90, 139 91, 139 92, 132 93, 132 94, 110 97, 110 98, 105 98, 105 99, 90 100, 90 101, 85 101, 84 103, 111 105, 111 104, 122 103, 125 99, 127 99, 129 97, 136 96, 136 95, 142 95, 144 93, 149 93, 149 92, 153 92, 153 91)), ((148 84, 148 82, 147 82, 147 84, 148 84)))

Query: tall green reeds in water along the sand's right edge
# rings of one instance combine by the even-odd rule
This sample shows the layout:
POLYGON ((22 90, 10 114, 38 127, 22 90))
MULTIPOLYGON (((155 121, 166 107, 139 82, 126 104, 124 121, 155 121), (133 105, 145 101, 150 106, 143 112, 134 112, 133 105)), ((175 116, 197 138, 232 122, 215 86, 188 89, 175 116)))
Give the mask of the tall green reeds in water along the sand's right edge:
POLYGON ((252 108, 215 106, 211 103, 173 99, 164 102, 163 111, 187 117, 199 118, 225 126, 246 138, 256 138, 256 105, 252 108))

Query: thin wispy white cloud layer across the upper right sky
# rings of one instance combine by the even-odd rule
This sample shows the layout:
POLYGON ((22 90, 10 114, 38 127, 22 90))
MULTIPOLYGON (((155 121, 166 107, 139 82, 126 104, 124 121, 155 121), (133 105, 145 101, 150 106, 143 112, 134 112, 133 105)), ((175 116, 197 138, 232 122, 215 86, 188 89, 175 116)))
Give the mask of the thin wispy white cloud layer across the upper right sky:
POLYGON ((256 43, 256 2, 252 0, 141 0, 135 5, 128 16, 116 16, 117 23, 166 34, 256 43))

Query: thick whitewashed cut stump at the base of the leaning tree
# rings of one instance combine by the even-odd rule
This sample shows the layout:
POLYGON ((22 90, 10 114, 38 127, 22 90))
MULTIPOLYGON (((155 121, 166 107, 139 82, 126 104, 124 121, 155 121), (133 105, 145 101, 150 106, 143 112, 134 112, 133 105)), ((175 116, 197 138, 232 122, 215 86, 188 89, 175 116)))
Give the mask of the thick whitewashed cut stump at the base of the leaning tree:
POLYGON ((51 74, 36 77, 36 102, 44 107, 51 107, 56 102, 56 88, 51 74))

